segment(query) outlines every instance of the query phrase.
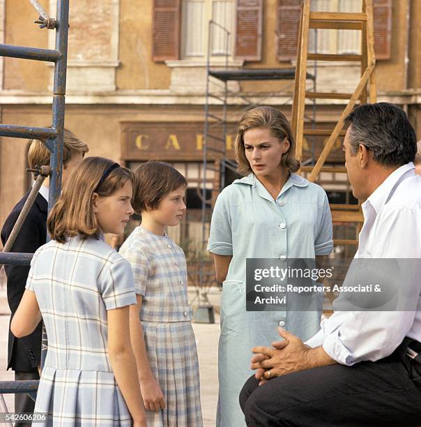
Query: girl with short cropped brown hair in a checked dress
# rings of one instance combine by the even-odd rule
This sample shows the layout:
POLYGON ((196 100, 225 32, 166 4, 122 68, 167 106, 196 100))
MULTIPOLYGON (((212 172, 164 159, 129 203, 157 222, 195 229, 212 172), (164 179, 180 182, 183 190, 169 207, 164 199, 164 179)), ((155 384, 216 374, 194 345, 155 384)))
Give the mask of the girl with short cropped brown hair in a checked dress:
POLYGON ((120 249, 135 274, 130 329, 148 427, 202 426, 185 256, 165 233, 183 218, 186 187, 171 165, 150 161, 138 167, 133 207, 141 225, 120 249))

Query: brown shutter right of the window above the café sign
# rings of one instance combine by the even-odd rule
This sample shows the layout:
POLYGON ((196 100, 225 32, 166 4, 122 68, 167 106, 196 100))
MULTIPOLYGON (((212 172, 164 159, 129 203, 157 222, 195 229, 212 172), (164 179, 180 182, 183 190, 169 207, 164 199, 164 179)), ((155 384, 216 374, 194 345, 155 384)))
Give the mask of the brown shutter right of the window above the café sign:
POLYGON ((235 57, 260 61, 263 0, 236 0, 235 57))

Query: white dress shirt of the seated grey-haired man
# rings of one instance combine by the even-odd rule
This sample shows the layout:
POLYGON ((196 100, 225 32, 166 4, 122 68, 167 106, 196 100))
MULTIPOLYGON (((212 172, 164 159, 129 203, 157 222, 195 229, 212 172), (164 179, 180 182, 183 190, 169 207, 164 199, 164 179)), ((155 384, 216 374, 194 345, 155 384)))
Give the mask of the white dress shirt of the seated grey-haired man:
MULTIPOLYGON (((364 225, 358 237, 359 258, 418 258, 421 266, 421 177, 413 163, 392 172, 362 204, 364 225)), ((421 342, 421 276, 399 283, 418 297, 418 309, 406 311, 337 311, 321 323, 306 344, 323 345, 339 364, 376 361, 390 355, 405 336, 421 342)), ((417 301, 414 301, 414 306, 417 301)))

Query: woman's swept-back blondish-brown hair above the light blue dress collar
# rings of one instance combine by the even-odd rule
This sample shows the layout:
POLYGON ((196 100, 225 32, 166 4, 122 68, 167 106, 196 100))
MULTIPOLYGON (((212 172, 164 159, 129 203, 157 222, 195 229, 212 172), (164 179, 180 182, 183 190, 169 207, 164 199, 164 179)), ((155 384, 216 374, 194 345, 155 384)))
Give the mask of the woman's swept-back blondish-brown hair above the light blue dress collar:
POLYGON ((282 142, 285 138, 289 140, 289 150, 281 158, 280 165, 289 172, 300 169, 300 162, 296 159, 296 142, 293 138, 291 126, 284 114, 273 107, 256 107, 247 111, 238 123, 236 142, 234 149, 238 163, 238 172, 250 174, 252 168, 245 157, 244 133, 254 128, 270 129, 272 135, 282 142))

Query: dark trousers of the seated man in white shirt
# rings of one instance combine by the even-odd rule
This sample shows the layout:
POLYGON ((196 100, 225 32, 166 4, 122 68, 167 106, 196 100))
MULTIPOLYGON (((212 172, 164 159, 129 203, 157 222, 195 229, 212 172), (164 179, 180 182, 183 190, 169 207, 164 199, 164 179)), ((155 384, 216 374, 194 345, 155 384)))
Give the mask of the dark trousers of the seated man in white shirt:
MULTIPOLYGON (((414 371, 415 372, 415 371, 414 371)), ((247 426, 421 426, 421 378, 395 354, 354 366, 251 377, 240 393, 247 426)))

